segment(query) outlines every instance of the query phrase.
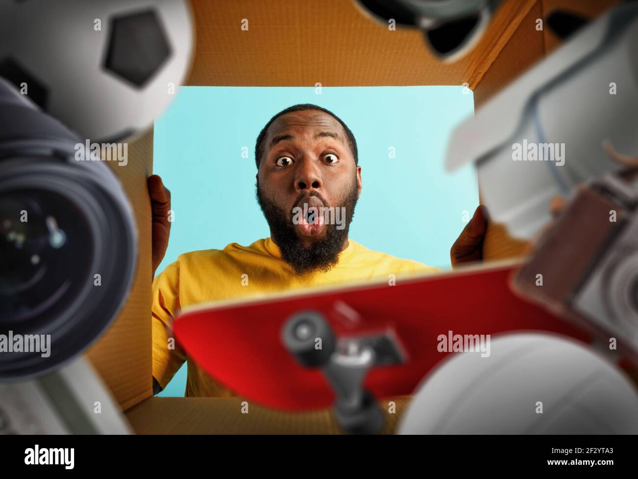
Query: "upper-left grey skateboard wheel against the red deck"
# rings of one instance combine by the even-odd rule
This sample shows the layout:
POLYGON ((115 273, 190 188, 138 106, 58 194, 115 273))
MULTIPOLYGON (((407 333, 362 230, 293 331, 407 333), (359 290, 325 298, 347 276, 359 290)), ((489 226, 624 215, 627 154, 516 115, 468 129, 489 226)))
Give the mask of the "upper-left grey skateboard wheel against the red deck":
POLYGON ((283 327, 282 339, 288 351, 306 367, 326 364, 336 344, 332 328, 316 311, 290 316, 283 327))

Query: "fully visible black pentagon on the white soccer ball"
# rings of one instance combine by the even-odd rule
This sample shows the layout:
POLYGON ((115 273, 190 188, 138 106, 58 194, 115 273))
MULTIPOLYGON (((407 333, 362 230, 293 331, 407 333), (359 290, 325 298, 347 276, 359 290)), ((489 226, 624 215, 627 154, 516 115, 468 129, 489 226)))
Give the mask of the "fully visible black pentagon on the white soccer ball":
POLYGON ((138 88, 171 54, 167 36, 153 10, 112 18, 104 68, 138 88))

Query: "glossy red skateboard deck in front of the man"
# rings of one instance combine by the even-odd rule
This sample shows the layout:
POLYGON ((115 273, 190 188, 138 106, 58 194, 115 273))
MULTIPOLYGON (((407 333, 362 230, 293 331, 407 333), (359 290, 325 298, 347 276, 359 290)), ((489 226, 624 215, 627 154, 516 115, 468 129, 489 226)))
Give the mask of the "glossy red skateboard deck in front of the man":
MULTIPOLYGON (((184 309, 174 331, 188 355, 237 394, 271 408, 330 406, 334 394, 318 369, 298 364, 281 340, 294 313, 315 309, 337 337, 392 329, 404 364, 374 367, 364 386, 377 398, 411 394, 449 353, 438 336, 540 330, 589 342, 590 333, 517 297, 508 287, 512 265, 412 276, 281 297, 184 309)), ((480 354, 480 353, 470 353, 480 354)))

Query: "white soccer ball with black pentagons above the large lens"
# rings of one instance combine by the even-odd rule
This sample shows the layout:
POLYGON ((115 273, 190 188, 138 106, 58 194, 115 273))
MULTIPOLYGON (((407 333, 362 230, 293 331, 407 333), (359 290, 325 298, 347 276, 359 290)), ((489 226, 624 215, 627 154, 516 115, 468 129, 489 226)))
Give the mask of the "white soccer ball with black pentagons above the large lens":
POLYGON ((0 76, 96 142, 152 126, 193 49, 184 0, 4 1, 0 32, 0 76))

